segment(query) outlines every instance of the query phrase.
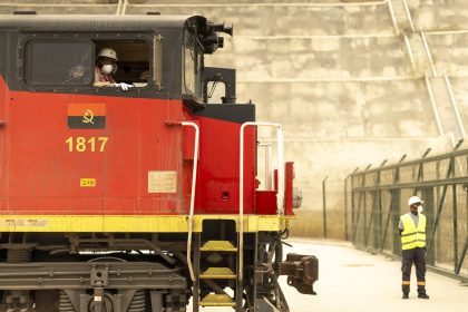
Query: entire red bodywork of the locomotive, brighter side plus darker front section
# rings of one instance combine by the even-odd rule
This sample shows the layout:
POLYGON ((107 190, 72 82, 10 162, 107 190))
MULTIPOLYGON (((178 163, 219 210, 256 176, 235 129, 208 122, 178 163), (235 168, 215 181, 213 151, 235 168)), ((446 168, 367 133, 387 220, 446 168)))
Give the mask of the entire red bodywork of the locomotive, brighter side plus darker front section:
MULTIPOLYGON (((1 213, 187 214, 193 131, 166 125, 184 117, 201 128, 196 213, 238 213, 240 124, 192 117, 182 101, 9 91, 3 80, 0 117, 7 119, 0 130, 1 213), (105 114, 106 128, 69 129, 69 107, 79 104, 105 114), (105 146, 99 138, 107 138, 105 146), (176 173, 174 193, 148 193, 148 172, 155 170, 176 173), (82 178, 96 185, 82 187, 82 178)), ((245 214, 255 206, 255 147, 252 127, 245 135, 245 214)))

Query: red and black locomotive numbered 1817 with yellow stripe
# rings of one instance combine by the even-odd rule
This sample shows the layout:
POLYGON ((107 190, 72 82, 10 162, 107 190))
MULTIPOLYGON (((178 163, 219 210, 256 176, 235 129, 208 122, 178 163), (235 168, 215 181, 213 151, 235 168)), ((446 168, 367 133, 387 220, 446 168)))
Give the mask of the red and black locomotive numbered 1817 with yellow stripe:
POLYGON ((223 32, 197 16, 0 17, 1 312, 289 311, 280 275, 314 293, 316 259, 283 260, 281 126, 235 103, 233 69, 204 66, 223 32), (272 189, 257 126, 280 131, 272 189))

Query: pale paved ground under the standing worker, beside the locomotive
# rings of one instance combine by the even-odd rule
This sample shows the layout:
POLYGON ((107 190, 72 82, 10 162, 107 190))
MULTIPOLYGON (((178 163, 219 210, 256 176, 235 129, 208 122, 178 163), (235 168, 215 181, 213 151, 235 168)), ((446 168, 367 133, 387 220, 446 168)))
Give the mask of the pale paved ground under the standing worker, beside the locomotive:
POLYGON ((302 295, 293 287, 283 286, 291 312, 468 311, 468 286, 454 279, 427 272, 430 299, 421 300, 417 298, 416 274, 412 272, 410 299, 402 300, 400 261, 355 250, 348 243, 319 240, 289 242, 293 248, 285 247, 284 254, 314 254, 320 266, 319 281, 314 284, 316 296, 302 295))

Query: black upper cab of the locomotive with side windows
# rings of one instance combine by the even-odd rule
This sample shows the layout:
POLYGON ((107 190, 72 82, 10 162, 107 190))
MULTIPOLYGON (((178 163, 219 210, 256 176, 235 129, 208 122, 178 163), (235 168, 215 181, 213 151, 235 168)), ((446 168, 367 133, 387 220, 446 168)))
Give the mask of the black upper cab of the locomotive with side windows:
MULTIPOLYGON (((153 96, 158 98, 183 95, 202 104, 204 53, 223 46, 216 31, 232 33, 232 28, 212 25, 202 17, 183 19, 178 29, 169 21, 148 21, 150 30, 126 25, 118 29, 118 22, 113 20, 107 23, 110 27, 92 31, 78 22, 67 22, 70 29, 55 31, 50 28, 60 22, 40 19, 51 25, 21 29, 18 53, 12 53, 19 62, 17 87, 32 91, 118 92, 94 86, 98 52, 111 48, 118 56, 118 66, 111 72, 116 81, 134 85, 135 92, 142 95, 148 90, 157 91, 153 96)), ((104 25, 108 17, 103 19, 104 25)))

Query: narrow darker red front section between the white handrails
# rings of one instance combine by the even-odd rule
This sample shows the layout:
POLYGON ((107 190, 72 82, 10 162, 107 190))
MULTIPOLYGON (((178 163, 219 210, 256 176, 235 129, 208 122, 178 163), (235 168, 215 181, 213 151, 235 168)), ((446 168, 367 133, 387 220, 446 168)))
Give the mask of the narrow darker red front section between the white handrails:
MULTIPOLYGON (((240 177, 241 124, 207 117, 191 117, 199 121, 199 163, 196 213, 237 214, 240 177)), ((245 131, 244 213, 254 213, 255 129, 245 131)))

